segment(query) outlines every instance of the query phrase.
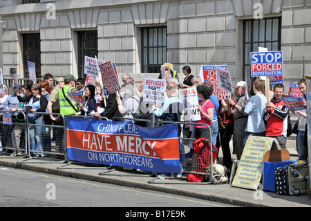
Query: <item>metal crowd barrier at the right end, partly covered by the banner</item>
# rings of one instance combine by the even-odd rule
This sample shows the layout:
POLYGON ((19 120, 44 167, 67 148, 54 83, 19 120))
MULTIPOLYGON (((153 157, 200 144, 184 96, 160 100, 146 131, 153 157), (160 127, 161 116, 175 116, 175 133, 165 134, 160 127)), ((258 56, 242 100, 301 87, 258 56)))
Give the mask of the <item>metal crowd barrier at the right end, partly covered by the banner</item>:
MULTIPOLYGON (((210 139, 212 139, 212 132, 211 132, 211 127, 209 127, 209 125, 204 124, 204 123, 190 123, 190 122, 171 122, 171 121, 154 121, 153 122, 153 126, 155 125, 160 125, 160 124, 167 124, 167 123, 175 123, 177 125, 205 125, 207 128, 209 128, 209 137, 210 139)), ((188 140, 188 141, 195 141, 196 139, 191 139, 191 138, 185 138, 185 137, 180 137, 180 140, 184 141, 184 140, 188 140)), ((180 141, 180 142, 182 142, 180 141)), ((200 160, 201 161, 205 161, 205 163, 207 163, 207 165, 209 164, 210 170, 209 171, 213 171, 213 151, 214 151, 214 147, 213 147, 213 143, 212 141, 209 141, 210 144, 210 158, 208 159, 206 156, 200 156, 200 160)), ((187 148, 185 148, 184 143, 182 142, 180 145, 180 164, 182 165, 182 172, 186 173, 186 174, 198 174, 198 175, 205 175, 207 177, 209 177, 209 182, 200 182, 200 183, 190 183, 190 182, 171 182, 171 180, 169 181, 164 181, 163 182, 156 182, 157 184, 161 183, 161 184, 213 184, 214 183, 214 177, 213 175, 211 175, 208 171, 207 168, 202 168, 202 163, 199 163, 197 161, 197 157, 196 154, 194 153, 194 151, 192 152, 191 156, 186 157, 186 151, 187 153, 190 152, 190 148, 189 146, 187 148), (196 170, 200 170, 203 172, 197 172, 196 170)), ((149 183, 155 183, 155 180, 158 179, 157 177, 154 179, 151 179, 149 181, 149 183)))

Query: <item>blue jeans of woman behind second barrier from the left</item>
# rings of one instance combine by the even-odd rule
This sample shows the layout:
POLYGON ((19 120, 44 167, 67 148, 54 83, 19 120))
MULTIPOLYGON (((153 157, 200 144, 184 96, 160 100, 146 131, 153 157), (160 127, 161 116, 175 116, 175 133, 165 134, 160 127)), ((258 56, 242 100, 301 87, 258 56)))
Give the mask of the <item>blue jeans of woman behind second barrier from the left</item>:
POLYGON ((29 136, 30 136, 30 152, 33 152, 33 154, 41 154, 39 152, 34 153, 34 151, 43 151, 42 145, 41 145, 41 126, 42 125, 42 116, 37 116, 35 118, 29 118, 30 125, 29 126, 29 136), (35 141, 37 140, 37 142, 35 141))

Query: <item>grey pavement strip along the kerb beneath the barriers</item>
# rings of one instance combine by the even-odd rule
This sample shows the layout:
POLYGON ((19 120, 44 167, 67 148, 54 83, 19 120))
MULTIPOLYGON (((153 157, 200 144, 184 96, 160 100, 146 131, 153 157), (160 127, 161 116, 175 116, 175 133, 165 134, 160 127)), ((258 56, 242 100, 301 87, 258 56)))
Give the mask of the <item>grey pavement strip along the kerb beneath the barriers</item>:
MULTIPOLYGON (((288 139, 290 159, 297 160, 296 136, 288 139)), ((219 152, 219 162, 222 160, 219 152)), ((234 159, 236 155, 232 154, 234 159)), ((262 185, 257 191, 233 187, 230 184, 189 183, 187 175, 182 178, 157 179, 145 171, 126 170, 125 168, 107 168, 106 166, 91 165, 75 161, 59 161, 53 158, 26 159, 6 157, 0 155, 0 166, 15 168, 16 170, 30 170, 50 175, 73 177, 93 182, 103 182, 120 186, 142 188, 162 193, 184 195, 222 202, 243 207, 310 207, 309 194, 279 195, 270 191, 263 191, 262 185)))

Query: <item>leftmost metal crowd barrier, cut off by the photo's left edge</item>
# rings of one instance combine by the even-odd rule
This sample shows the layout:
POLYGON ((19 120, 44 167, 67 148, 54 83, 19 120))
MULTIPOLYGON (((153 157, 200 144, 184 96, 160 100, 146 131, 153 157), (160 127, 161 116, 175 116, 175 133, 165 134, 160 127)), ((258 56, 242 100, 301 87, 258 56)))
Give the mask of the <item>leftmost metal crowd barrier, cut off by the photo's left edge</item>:
POLYGON ((12 112, 12 125, 3 123, 3 116, 0 121, 0 158, 26 157, 28 155, 27 118, 24 112, 12 112), (16 121, 19 118, 26 119, 23 123, 16 121))

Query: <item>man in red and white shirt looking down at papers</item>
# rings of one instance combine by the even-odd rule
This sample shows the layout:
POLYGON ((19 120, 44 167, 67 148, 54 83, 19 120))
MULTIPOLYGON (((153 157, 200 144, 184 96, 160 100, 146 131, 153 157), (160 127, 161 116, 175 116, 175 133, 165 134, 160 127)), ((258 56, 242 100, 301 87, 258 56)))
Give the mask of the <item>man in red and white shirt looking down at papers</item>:
POLYGON ((281 96, 284 93, 284 86, 274 86, 274 97, 265 105, 267 121, 266 136, 274 137, 282 149, 286 149, 286 134, 288 131, 288 114, 290 109, 285 106, 281 96))

